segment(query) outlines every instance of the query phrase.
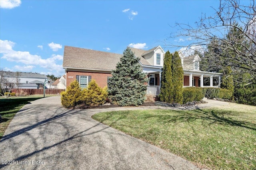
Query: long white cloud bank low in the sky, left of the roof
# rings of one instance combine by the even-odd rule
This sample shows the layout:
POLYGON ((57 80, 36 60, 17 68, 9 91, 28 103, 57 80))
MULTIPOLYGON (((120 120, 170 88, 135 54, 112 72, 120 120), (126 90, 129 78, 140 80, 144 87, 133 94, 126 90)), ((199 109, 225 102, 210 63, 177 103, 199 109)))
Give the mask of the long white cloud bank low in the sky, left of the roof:
MULTIPOLYGON (((29 69, 35 65, 38 65, 42 68, 46 68, 48 70, 54 70, 58 73, 63 72, 62 65, 56 64, 57 61, 63 60, 62 55, 53 54, 51 57, 47 59, 42 59, 39 55, 32 55, 28 51, 15 51, 12 49, 14 47, 14 42, 8 40, 0 40, 0 53, 3 54, 1 59, 6 59, 10 62, 23 63, 26 64, 24 68, 29 69)), ((16 68, 21 68, 16 66, 16 68)))

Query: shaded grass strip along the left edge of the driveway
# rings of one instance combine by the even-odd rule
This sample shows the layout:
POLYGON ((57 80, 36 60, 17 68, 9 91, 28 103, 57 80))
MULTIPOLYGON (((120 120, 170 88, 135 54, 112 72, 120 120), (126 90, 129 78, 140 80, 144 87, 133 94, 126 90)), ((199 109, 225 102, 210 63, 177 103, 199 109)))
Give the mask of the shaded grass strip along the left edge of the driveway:
MULTIPOLYGON (((47 95, 52 96, 52 95, 47 95)), ((2 122, 0 122, 0 139, 4 135, 9 123, 12 121, 15 114, 26 104, 31 101, 42 98, 43 95, 30 95, 24 97, 0 97, 0 115, 2 122)))

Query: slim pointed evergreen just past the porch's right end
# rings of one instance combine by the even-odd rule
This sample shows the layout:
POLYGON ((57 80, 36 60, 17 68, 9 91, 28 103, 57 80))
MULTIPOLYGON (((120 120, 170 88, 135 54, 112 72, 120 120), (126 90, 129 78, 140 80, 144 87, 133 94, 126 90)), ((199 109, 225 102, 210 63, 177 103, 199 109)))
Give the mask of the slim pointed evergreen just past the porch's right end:
POLYGON ((220 84, 220 88, 225 88, 230 90, 232 94, 234 93, 234 81, 232 76, 232 70, 230 66, 227 66, 224 70, 224 74, 222 76, 222 83, 220 84))

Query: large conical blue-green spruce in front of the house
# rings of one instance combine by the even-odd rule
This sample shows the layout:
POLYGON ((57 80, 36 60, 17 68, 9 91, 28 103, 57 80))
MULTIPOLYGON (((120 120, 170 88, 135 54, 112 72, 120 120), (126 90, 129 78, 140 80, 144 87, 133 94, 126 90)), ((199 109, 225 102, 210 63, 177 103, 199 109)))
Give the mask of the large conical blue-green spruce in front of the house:
POLYGON ((119 106, 138 106, 146 100, 148 78, 142 72, 139 61, 130 47, 127 47, 116 70, 112 70, 108 93, 111 100, 119 106))

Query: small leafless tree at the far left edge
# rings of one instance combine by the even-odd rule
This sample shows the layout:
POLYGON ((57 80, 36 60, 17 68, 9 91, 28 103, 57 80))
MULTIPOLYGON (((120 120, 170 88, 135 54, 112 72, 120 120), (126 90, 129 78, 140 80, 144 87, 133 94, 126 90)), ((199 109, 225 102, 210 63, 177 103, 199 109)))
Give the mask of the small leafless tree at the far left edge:
POLYGON ((0 70, 0 86, 2 88, 2 93, 0 93, 4 98, 9 96, 11 89, 14 86, 14 82, 11 77, 11 73, 8 71, 0 70))

